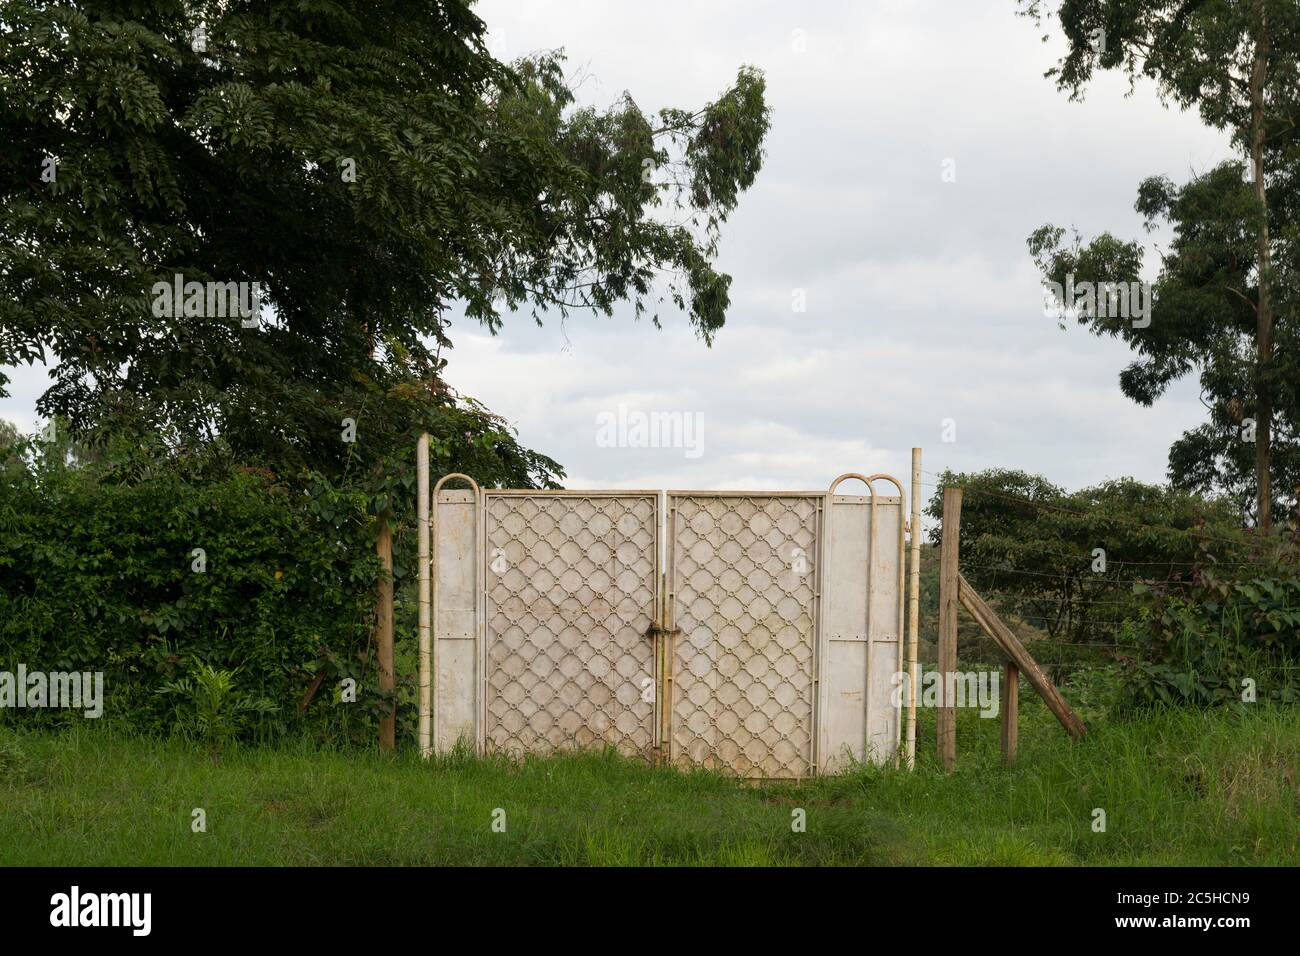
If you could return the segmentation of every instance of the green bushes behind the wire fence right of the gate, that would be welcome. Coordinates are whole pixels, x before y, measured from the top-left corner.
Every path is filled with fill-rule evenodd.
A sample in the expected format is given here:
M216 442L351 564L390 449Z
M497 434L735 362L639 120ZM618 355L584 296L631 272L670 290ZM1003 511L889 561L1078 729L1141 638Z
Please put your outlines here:
M1118 661L1126 708L1240 702L1245 678L1260 700L1296 700L1294 535L1245 532L1226 499L1131 479L1074 493L1004 470L945 472L942 483L963 489L962 574L1058 676ZM927 514L942 515L941 490ZM959 656L1000 657L987 650L968 639Z

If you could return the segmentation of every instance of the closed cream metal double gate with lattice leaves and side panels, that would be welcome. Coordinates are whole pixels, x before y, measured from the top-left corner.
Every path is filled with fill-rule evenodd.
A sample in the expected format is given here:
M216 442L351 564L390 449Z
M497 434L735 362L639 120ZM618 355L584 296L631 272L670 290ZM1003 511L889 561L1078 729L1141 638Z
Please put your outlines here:
M433 490L432 737L801 778L900 739L904 496ZM868 496L841 496L846 477ZM897 488L878 496L875 479Z

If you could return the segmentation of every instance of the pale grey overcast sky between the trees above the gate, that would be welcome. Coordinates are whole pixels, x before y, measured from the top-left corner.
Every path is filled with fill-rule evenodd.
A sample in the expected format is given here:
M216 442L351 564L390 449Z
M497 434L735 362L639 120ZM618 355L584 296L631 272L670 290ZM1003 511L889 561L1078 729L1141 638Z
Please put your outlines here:
M662 330L630 308L542 329L519 315L497 337L452 324L450 382L564 464L568 486L906 480L913 445L933 472L1160 481L1201 420L1195 381L1153 408L1121 394L1128 350L1044 316L1024 241L1048 221L1139 238L1139 181L1183 181L1228 156L1226 138L1117 75L1070 103L1043 77L1058 46L1010 0L488 0L478 14L499 56L564 47L586 104L627 90L647 112L694 108L741 64L767 75L767 160L724 228L732 306L712 349L671 310ZM12 375L0 416L26 429L44 372ZM620 406L686 412L701 433L610 447L601 416Z

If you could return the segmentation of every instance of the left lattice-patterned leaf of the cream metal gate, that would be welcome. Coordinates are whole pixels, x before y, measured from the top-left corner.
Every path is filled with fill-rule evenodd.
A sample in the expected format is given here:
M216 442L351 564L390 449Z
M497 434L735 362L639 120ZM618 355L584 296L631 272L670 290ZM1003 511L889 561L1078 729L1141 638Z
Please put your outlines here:
M490 750L654 747L656 499L488 496Z

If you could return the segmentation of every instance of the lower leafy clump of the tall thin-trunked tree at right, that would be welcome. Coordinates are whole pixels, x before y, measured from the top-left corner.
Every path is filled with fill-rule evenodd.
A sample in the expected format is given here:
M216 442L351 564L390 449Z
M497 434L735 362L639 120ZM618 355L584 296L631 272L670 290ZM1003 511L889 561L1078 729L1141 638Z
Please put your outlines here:
M1295 198L1284 189L1270 193L1274 225L1284 234L1287 207ZM1138 209L1148 228L1165 224L1173 239L1161 258L1152 286L1149 325L1100 307L1075 310L1075 319L1093 334L1118 337L1135 359L1119 375L1119 388L1149 406L1179 378L1199 372L1209 420L1186 432L1169 451L1169 476L1179 488L1227 494L1251 514L1256 496L1256 445L1243 440L1245 419L1256 419L1254 388L1265 384L1273 402L1271 468L1275 510L1295 502L1300 488L1300 326L1295 307L1300 286L1274 289L1277 323L1274 356L1256 367L1257 287L1252 222L1254 198L1240 163L1225 163L1182 187L1162 177L1141 183ZM1278 234L1275 232L1274 234ZM1030 237L1030 252L1045 281L1135 282L1143 246L1102 233L1091 242L1043 226ZM1278 256L1300 255L1300 245ZM1062 306L1067 303L1060 303ZM1262 376L1262 378L1261 378Z

